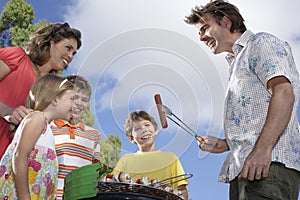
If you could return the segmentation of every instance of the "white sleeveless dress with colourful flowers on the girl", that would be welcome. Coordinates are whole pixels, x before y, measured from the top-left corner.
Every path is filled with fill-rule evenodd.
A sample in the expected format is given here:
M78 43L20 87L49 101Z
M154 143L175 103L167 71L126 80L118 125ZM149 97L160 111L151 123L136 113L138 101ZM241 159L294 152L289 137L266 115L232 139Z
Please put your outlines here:
M55 199L58 165L52 130L46 120L46 127L28 156L28 185L31 199ZM14 149L23 130L23 123L17 129L12 143L0 162L0 199L17 199L12 173Z

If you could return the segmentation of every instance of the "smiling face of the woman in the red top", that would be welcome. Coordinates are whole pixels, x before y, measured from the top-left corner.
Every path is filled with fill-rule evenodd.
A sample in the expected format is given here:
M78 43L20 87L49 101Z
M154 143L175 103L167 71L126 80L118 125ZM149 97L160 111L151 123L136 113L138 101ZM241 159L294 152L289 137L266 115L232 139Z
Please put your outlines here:
M65 38L50 46L50 59L48 63L52 69L62 71L72 62L77 51L77 41L75 38Z

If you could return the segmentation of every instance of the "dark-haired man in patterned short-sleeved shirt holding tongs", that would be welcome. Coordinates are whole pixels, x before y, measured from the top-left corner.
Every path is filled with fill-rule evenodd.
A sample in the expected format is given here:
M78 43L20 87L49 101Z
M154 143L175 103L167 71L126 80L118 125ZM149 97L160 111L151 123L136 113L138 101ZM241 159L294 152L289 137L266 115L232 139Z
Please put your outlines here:
M297 200L300 81L289 45L247 30L238 9L223 0L195 7L185 22L213 54L227 53L226 139L204 136L198 144L229 151L219 181L230 183L230 199Z

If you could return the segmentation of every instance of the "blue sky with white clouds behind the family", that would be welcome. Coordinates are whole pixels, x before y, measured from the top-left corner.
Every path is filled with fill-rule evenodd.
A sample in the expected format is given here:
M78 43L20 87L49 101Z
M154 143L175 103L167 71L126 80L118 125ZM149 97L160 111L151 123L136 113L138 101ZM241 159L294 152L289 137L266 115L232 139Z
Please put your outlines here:
M103 138L119 136L122 154L136 151L123 131L129 112L144 109L159 121L153 99L156 93L199 135L223 137L224 54L211 55L198 42L196 29L183 22L192 7L206 2L28 0L35 10L35 22L66 21L82 31L83 46L65 73L79 73L92 83L95 127ZM268 31L288 41L300 69L300 24L289 22L300 17L300 2L230 2L240 8L250 30ZM228 185L217 182L226 154L199 151L190 135L168 123L167 129L159 129L157 147L175 152L186 173L193 174L190 199L228 199Z

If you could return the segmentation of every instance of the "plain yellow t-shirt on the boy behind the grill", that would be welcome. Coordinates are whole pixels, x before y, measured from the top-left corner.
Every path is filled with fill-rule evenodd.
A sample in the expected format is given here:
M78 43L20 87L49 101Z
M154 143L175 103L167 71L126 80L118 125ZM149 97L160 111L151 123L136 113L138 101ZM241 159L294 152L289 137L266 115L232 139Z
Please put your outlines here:
M132 180L139 179L142 176L147 176L150 179L164 180L185 174L177 156L172 152L162 151L138 151L133 154L125 154L118 161L112 174L116 174L117 172L128 172ZM172 180L172 182L174 181ZM182 180L172 184L175 188L180 185L188 185L188 181Z

